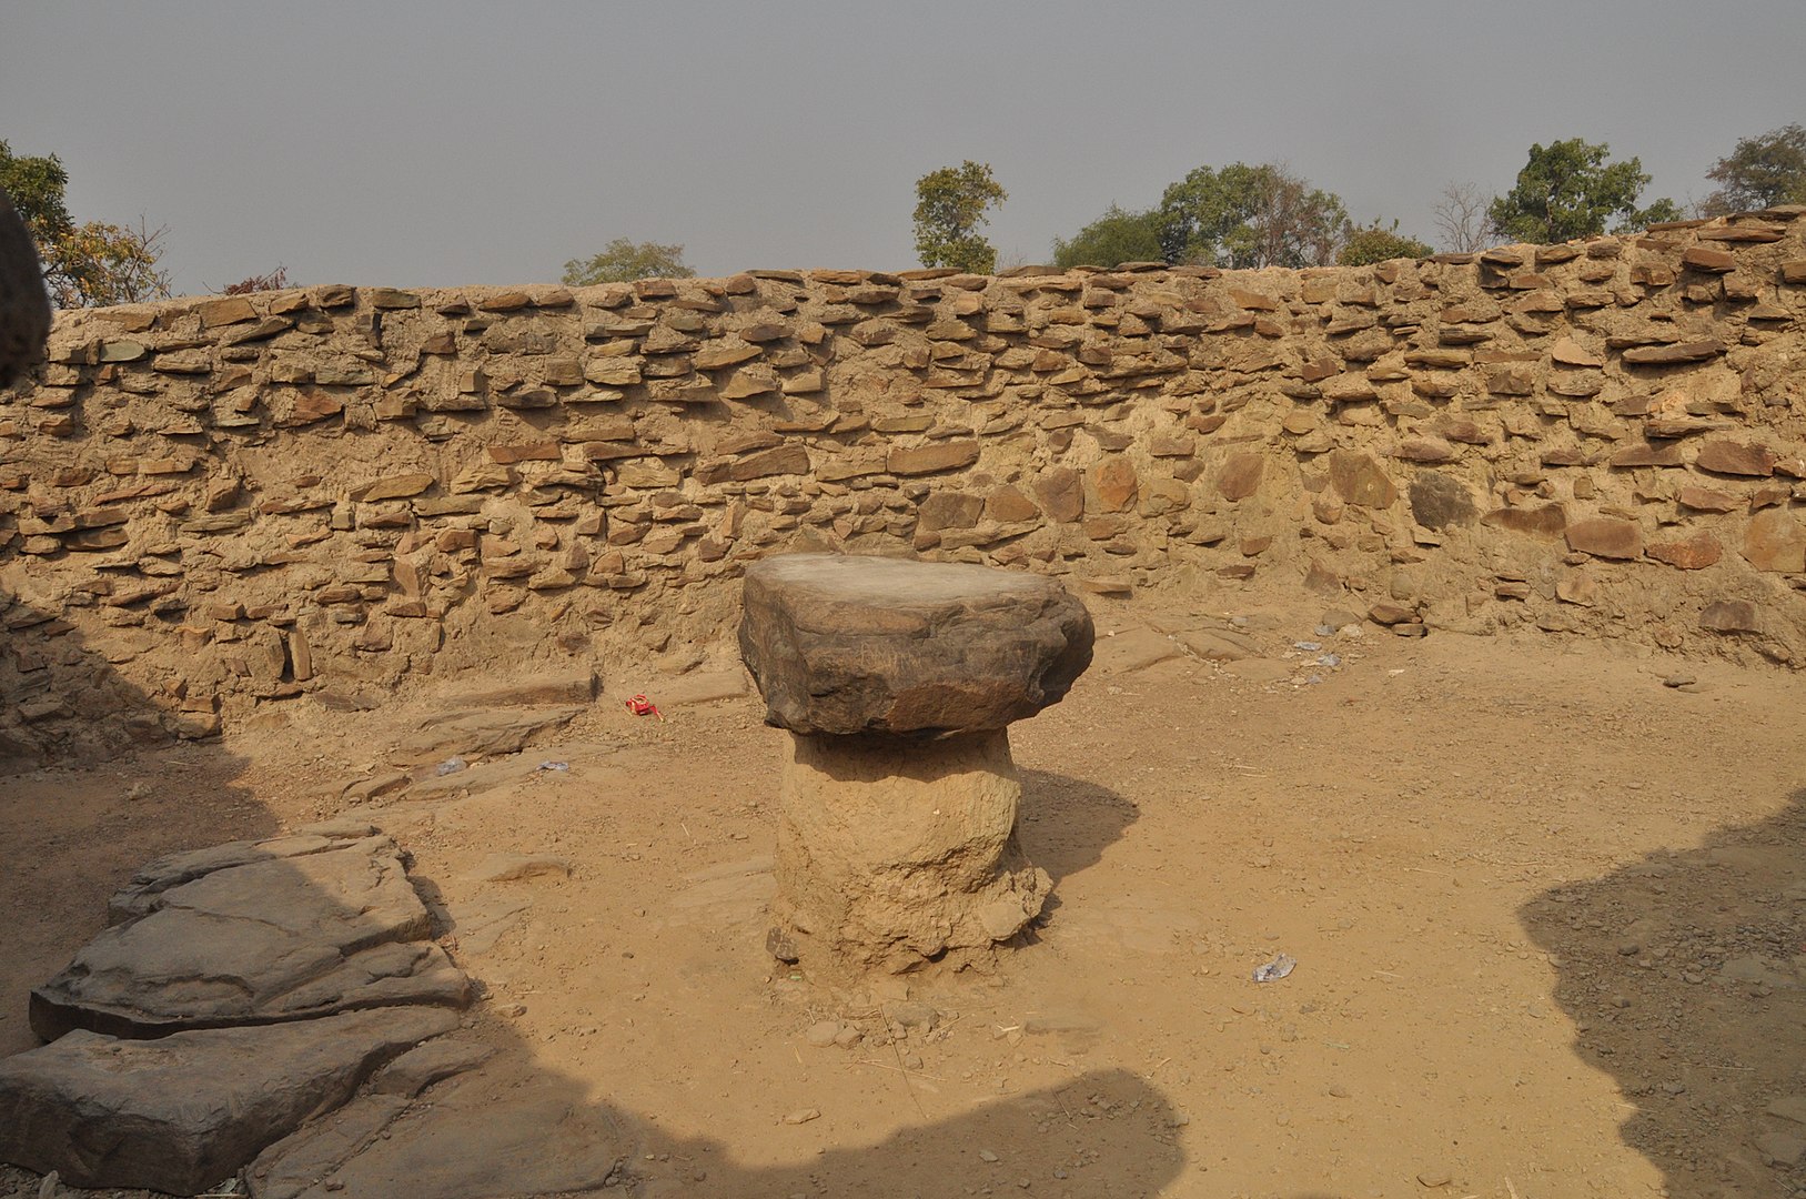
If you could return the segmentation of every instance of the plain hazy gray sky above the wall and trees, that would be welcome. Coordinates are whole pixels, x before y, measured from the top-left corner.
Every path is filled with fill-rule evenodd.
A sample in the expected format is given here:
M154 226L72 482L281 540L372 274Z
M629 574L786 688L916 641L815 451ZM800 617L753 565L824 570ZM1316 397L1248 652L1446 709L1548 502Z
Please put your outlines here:
M1645 202L1806 121L1802 0L249 4L0 0L0 139L177 291L916 265L916 179L990 163L1004 260L1201 164L1282 161L1436 240L1450 181L1606 141Z

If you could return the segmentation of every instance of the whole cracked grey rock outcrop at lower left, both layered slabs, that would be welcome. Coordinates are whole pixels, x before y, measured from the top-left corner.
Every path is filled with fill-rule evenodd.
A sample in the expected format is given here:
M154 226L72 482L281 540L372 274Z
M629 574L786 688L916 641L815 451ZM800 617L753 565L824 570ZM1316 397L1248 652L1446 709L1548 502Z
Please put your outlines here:
M108 916L31 993L51 1044L0 1062L0 1161L78 1186L200 1194L470 1002L405 854L358 822L159 858Z

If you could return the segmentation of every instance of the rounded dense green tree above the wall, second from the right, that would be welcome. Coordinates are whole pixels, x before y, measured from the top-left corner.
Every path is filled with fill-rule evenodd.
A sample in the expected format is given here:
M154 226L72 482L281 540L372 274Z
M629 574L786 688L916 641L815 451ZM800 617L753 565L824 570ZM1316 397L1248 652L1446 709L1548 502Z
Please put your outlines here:
M1513 242L1568 242L1598 237L1613 217L1613 231L1642 229L1658 220L1680 220L1674 200L1638 208L1649 186L1638 159L1609 163L1611 146L1578 137L1530 146L1530 161L1517 172L1517 186L1494 197L1486 209L1492 229Z

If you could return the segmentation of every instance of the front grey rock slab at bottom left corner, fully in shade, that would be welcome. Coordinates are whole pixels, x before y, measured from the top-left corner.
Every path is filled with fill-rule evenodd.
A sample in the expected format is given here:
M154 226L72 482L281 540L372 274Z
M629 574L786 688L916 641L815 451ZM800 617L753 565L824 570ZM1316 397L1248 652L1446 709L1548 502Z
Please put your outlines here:
M0 1062L0 1159L74 1186L193 1195L457 1024L442 1008L385 1008L154 1042L74 1031Z

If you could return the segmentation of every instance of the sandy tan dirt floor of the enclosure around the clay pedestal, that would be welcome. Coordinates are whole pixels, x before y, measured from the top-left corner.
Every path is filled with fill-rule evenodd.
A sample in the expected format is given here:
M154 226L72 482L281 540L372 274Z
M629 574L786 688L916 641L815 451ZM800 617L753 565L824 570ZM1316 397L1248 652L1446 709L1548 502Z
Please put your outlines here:
M1806 677L1326 636L1299 596L1094 610L1093 670L1011 730L1055 903L991 973L840 991L764 952L786 733L683 702L733 679L719 645L605 663L437 798L341 796L426 708L312 699L0 782L0 1053L141 861L358 814L442 903L493 1069L619 1136L609 1194L1806 1195ZM486 881L498 852L569 876Z

